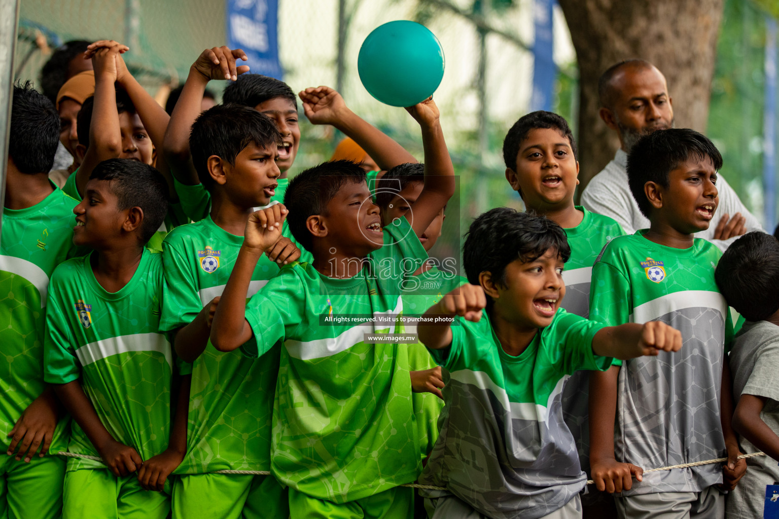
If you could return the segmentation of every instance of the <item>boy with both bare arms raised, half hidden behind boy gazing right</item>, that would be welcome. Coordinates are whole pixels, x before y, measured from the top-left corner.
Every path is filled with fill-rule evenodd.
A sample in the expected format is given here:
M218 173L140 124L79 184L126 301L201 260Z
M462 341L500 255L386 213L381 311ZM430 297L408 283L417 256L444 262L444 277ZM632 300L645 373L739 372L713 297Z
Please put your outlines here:
M278 146L277 165L281 176L273 202L284 200L284 191L291 169L298 155L300 127L298 126L298 99L287 83L259 74L247 74L249 66L239 65L246 56L241 49L213 47L203 51L189 68L182 95L171 115L165 132L164 153L175 178L176 190L189 218L199 221L209 212L210 193L203 188L189 153L189 128L200 113L203 94L210 80L231 81L224 89L223 103L236 103L254 108L270 117L282 135ZM351 110L333 89L320 86L300 93L303 108L312 124L333 124L344 134L358 141L384 169L414 157L397 142L366 123ZM259 209L259 208L258 208ZM289 234L285 234L289 237Z

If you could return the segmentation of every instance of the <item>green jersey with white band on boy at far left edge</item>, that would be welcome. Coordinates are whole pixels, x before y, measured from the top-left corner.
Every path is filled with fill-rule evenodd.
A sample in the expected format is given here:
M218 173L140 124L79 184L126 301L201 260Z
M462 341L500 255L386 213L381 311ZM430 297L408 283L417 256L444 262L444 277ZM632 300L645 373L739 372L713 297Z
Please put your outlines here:
M53 184L52 184L53 185ZM22 412L44 391L44 324L51 272L73 254L73 208L55 187L27 209L4 209L0 237L0 445ZM61 420L51 452L67 447Z

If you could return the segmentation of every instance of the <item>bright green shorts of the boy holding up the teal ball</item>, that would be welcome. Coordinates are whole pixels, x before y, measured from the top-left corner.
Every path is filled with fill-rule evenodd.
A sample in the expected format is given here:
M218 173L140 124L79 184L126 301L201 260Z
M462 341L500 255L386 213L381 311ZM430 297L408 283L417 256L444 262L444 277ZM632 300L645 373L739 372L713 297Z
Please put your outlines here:
M348 503L333 503L290 491L291 519L409 519L414 517L414 489L396 486Z

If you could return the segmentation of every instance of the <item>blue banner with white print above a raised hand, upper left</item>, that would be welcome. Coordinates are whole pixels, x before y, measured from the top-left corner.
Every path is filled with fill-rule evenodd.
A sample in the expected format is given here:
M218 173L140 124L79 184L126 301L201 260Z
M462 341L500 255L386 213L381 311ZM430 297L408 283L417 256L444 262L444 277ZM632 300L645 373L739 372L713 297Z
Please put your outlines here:
M254 74L282 79L279 62L278 0L227 0L227 47L240 48Z

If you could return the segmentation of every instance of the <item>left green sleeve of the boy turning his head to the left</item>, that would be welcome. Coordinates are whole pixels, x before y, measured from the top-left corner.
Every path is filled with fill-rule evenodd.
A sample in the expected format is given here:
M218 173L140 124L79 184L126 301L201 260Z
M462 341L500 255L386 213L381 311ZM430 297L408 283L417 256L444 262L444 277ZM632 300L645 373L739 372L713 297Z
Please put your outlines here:
M56 299L57 287L49 286L44 334L44 380L48 384L67 384L81 375L81 364L65 314ZM76 311L76 310L73 310Z

